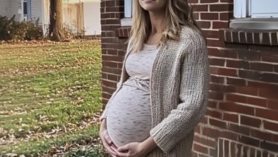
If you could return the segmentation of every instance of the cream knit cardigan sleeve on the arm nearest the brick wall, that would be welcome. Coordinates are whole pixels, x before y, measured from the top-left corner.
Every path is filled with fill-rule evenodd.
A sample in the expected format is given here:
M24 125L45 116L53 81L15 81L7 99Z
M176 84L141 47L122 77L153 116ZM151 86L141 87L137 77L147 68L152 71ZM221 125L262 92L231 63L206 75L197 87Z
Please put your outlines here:
M166 154L197 126L207 106L210 78L205 40L194 36L189 42L183 50L185 56L180 67L181 103L150 130L150 136Z

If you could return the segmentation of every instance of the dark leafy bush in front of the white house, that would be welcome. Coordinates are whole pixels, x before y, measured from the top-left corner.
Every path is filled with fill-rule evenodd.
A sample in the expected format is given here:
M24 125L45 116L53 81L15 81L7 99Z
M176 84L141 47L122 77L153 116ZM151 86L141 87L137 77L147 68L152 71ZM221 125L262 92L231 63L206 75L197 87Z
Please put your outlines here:
M32 40L43 38L43 30L31 21L16 21L15 16L8 19L0 15L0 40Z

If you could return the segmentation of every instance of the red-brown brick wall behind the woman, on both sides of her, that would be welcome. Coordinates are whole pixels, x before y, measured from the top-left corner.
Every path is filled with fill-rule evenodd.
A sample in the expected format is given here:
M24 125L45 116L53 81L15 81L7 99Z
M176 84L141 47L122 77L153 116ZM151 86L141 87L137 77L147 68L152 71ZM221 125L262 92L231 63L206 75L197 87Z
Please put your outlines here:
M193 156L278 156L277 31L227 29L232 0L190 3L207 36L211 73ZM122 17L123 1L101 1L103 106L120 79L129 30L120 27Z

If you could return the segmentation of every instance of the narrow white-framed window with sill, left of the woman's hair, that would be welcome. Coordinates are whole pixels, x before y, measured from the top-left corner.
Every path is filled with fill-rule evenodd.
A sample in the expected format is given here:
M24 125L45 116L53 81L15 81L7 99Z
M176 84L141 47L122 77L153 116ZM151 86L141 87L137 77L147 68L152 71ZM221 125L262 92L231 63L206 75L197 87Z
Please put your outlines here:
M125 0L125 17L120 19L121 26L131 26L131 19L133 14L133 0Z

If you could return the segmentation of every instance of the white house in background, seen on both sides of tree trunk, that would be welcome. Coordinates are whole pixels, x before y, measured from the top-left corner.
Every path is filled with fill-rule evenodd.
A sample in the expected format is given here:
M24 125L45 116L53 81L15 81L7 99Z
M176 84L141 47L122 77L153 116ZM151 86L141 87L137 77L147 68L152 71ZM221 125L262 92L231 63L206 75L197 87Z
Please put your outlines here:
M100 0L63 0L63 22L73 31L85 30L86 36L101 34ZM47 33L49 0L1 0L0 15L18 21L37 20Z

